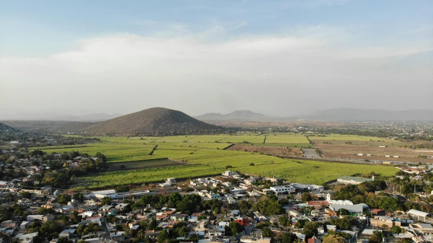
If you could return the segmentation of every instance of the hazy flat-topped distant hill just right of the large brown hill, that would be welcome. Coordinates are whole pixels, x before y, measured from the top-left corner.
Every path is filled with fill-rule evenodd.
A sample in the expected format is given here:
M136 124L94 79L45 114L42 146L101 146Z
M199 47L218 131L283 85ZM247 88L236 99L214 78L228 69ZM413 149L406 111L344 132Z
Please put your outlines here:
M249 110L234 111L229 114L222 115L220 113L206 113L195 117L199 120L242 120L242 121L260 121L267 120L271 117L261 113L255 113Z

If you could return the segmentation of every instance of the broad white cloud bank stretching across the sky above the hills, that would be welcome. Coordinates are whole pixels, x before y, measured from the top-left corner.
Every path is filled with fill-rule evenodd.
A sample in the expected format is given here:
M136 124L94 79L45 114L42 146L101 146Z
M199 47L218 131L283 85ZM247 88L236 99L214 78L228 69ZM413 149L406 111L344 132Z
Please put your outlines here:
M431 51L428 43L355 48L336 46L335 30L319 36L228 38L222 26L201 33L190 33L182 25L173 29L174 37L112 34L80 40L76 49L44 58L1 57L0 79L6 81L2 100L22 93L11 106L77 106L123 114L165 106L197 115L231 111L221 101L230 97L248 106L244 109L289 114L336 106L349 97L347 92L355 99L365 92L375 96L391 84L414 77L425 82L432 75L422 64L423 72L397 70L392 64ZM348 39L347 33L341 35ZM221 36L224 41L215 41ZM383 87L366 88L375 83ZM311 97L326 102L293 106Z

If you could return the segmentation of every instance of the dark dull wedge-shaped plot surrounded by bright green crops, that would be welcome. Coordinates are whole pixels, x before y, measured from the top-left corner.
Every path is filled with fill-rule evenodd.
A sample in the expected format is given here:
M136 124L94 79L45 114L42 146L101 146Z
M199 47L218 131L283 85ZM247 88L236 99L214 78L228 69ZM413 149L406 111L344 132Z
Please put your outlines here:
M166 166L185 165L186 163L173 161L169 159L148 160L126 163L113 163L110 164L110 171L126 171L135 169L148 169L148 168L161 168ZM121 167L125 166L125 167Z

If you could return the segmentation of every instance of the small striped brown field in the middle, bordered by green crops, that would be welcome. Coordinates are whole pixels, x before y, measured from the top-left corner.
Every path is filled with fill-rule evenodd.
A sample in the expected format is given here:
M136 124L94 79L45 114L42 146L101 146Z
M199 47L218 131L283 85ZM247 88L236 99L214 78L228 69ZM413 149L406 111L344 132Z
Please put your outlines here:
M228 148L227 150L302 157L301 149L288 148L288 147L267 147L267 146L237 144Z

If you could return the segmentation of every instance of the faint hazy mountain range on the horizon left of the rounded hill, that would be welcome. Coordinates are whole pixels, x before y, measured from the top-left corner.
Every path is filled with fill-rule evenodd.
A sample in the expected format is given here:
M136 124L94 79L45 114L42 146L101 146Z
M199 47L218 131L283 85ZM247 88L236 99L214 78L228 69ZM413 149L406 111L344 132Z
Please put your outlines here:
M121 116L121 114L88 114L88 115L66 115L56 113L0 113L2 120L44 120L44 121L105 121Z

